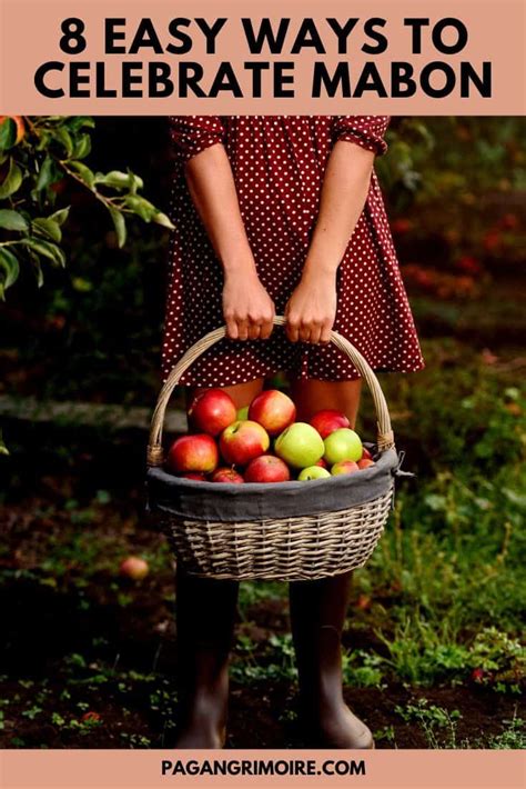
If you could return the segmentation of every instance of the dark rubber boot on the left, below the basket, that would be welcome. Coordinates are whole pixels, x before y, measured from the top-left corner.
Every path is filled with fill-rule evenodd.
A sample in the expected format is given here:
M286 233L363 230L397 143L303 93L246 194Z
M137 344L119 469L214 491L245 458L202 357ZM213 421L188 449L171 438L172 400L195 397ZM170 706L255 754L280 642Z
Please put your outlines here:
M223 748L239 583L176 575L175 748Z

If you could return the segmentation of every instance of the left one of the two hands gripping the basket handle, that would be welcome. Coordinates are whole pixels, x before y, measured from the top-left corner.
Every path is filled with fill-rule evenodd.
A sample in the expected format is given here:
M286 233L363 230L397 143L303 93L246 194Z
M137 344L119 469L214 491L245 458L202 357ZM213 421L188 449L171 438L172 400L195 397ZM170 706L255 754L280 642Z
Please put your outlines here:
M257 274L225 273L223 316L231 340L266 340L274 328L274 302Z

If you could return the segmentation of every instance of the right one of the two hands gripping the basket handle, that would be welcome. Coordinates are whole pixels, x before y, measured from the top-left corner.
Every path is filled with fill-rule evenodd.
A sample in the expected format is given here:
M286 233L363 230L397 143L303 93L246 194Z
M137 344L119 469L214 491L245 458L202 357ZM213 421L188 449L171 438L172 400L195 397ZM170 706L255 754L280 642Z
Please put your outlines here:
M306 273L285 308L286 336L292 342L326 344L336 318L336 271Z

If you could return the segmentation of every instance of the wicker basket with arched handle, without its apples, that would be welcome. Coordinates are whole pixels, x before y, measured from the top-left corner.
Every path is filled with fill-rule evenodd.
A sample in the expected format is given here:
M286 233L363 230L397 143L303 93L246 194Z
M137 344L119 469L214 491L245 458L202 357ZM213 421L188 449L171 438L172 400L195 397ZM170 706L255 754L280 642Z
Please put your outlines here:
M276 317L276 326L284 324ZM384 530L398 457L384 394L368 363L343 337L331 342L366 381L377 417L376 463L357 475L279 485L214 485L162 470L162 428L183 372L225 337L222 327L172 369L158 399L148 447L149 506L188 572L219 579L312 580L362 567Z

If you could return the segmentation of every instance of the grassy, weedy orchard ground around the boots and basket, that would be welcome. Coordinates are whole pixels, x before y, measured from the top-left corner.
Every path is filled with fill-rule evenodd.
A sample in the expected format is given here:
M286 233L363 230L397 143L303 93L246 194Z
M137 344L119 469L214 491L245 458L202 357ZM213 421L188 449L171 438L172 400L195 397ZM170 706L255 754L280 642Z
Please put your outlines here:
M474 357L447 339L425 351L426 371L383 378L418 479L399 486L380 548L355 572L345 696L378 747L519 747L517 357ZM134 431L13 427L1 508L0 745L168 746L174 566L144 517L144 442ZM129 555L148 560L143 581L119 575ZM286 585L243 583L229 745L301 746L295 682Z

